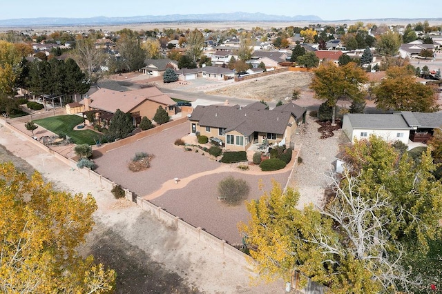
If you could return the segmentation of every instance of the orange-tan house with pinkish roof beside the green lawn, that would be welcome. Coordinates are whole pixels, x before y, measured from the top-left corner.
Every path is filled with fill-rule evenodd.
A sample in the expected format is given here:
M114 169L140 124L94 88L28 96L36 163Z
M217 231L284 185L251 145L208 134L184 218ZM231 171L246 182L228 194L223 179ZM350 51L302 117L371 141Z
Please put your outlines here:
M111 117L117 109L131 113L134 124L140 124L142 117L153 119L157 108L162 106L169 115L175 115L175 101L156 87L142 88L126 92L99 89L79 102L84 112L95 111L97 119Z

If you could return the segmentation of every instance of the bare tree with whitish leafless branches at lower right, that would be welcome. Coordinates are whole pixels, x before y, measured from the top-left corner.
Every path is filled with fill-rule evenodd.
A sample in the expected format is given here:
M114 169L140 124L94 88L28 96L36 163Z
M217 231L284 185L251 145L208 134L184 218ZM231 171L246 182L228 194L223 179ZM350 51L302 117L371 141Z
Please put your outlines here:
M322 215L333 219L341 241L332 240L320 230L306 241L317 244L323 253L351 256L363 262L371 279L378 281L385 290L398 286L407 290L409 286L421 284L420 277L412 277L412 271L401 266L405 251L386 229L391 222L389 216L379 213L391 205L388 197L382 196L385 188L378 189L375 199L367 199L358 192L359 184L357 177L345 171L343 180L334 178L335 198L325 208L319 208ZM332 262L339 264L340 259Z

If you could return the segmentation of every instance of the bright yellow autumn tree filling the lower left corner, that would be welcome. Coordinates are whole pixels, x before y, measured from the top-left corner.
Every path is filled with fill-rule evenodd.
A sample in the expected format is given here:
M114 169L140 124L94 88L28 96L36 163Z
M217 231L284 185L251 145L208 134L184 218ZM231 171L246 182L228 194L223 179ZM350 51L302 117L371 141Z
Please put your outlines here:
M93 227L91 195L70 195L0 164L0 292L109 293L115 271L82 258L77 246Z

